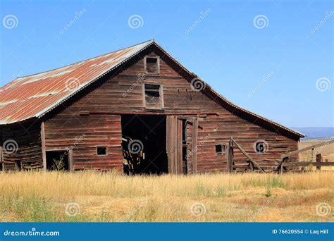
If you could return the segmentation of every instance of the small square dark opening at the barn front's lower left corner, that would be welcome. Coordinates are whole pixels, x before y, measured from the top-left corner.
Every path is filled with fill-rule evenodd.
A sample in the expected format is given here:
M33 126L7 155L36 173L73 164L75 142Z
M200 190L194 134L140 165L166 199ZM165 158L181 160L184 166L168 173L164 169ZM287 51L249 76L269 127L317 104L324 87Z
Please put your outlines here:
M68 170L68 152L67 151L48 151L47 170L48 171L66 171Z

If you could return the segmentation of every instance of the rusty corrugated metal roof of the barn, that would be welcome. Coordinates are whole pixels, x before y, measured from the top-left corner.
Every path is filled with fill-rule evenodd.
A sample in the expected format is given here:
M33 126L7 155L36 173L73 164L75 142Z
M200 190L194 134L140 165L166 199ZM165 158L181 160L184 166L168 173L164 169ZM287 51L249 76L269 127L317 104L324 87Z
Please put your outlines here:
M158 47L163 53L171 58L180 68L183 68L192 78L198 78L197 75L191 73L180 62L178 62L171 54L161 48L159 44L151 39L147 42L137 44L132 47L113 51L95 58L89 58L85 61L73 63L47 72L28 75L17 78L0 88L0 125L16 123L33 117L41 117L58 104L72 97L80 89L86 87L97 78L104 75L109 70L120 66L120 64L128 61L129 58L135 56L138 52L146 49L151 44ZM211 94L229 106L239 109L249 116L258 118L261 121L270 123L276 128L282 128L299 137L304 135L295 130L291 130L274 121L268 120L262 116L252 113L240 106L233 104L225 97L218 94L212 87L206 84Z

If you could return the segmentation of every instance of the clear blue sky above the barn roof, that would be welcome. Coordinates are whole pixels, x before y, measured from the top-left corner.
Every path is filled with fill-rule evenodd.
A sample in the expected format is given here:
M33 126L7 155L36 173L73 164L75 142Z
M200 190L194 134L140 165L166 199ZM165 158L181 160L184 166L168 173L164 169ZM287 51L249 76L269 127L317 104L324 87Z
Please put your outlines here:
M334 126L332 1L0 3L1 86L154 38L235 104L290 127Z

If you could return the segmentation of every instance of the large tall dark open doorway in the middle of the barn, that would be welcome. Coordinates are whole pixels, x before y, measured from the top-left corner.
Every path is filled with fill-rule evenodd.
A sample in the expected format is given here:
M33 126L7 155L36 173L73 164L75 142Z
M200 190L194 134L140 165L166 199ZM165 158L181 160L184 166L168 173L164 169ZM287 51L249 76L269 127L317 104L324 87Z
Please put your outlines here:
M124 173L168 173L166 116L122 115L121 119Z

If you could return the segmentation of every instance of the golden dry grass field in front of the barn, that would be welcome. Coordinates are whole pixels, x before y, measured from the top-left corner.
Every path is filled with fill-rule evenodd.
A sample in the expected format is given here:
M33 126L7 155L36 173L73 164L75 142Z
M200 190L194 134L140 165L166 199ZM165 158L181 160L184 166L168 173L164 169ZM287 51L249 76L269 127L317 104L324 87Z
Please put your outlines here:
M0 173L0 183L0 221L334 221L334 172L25 172ZM66 215L70 202L80 205L80 214ZM330 205L332 213L318 216L320 203ZM204 207L205 213L194 216L193 205L194 214L204 213Z

